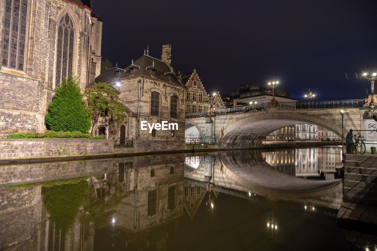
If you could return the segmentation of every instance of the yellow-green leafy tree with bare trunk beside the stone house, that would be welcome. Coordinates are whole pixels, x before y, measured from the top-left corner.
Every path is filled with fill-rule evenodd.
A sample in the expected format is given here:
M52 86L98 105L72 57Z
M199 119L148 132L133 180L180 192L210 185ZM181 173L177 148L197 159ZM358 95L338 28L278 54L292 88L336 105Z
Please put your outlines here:
M121 98L115 90L106 83L95 83L94 89L84 92L86 112L92 117L93 129L98 127L101 116L107 111L110 116L115 116L117 122L123 124L126 118L126 109L120 103Z

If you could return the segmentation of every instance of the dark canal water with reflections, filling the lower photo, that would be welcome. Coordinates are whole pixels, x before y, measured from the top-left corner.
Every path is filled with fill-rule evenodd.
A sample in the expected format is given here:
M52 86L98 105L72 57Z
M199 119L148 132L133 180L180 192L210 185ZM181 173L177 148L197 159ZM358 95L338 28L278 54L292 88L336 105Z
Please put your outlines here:
M0 166L0 250L375 250L341 147Z

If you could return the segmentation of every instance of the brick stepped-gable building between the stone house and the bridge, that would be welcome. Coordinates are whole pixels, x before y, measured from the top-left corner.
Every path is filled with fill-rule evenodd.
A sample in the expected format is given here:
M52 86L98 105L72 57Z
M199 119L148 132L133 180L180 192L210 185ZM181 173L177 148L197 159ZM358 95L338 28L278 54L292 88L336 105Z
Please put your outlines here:
M190 73L189 75L182 77L181 79L187 88L185 100L186 113L208 111L211 105L211 101L208 97L207 92L204 89L204 86L198 76L198 73L196 73L196 70L194 70L193 73ZM212 93L210 93L210 95L212 95ZM214 104L215 109L225 108L224 104L222 103L222 99L219 92L216 93Z

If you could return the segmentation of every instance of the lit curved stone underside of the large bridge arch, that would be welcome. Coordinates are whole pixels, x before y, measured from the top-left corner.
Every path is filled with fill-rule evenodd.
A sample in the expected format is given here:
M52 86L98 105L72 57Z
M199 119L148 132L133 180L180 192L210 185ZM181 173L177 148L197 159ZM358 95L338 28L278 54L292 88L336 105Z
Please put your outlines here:
M268 112L247 113L244 118L224 127L220 134L219 147L260 147L262 141L271 132L282 127L303 123L316 124L342 136L341 124L334 123L333 119L301 111L301 113L293 113L290 110L270 109ZM339 111L334 110L333 112L335 113L332 116L336 116L339 121Z

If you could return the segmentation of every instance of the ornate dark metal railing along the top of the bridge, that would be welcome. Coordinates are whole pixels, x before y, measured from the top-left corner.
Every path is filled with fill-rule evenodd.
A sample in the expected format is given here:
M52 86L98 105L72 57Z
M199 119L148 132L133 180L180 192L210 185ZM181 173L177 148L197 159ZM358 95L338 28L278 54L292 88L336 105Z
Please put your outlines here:
M365 104L364 99L346 99L346 100L328 100L328 101L313 101L313 102L286 102L279 103L280 109L311 109L319 108L347 108L347 107L362 107ZM258 104L252 106L237 106L224 109L215 110L216 115L225 115L231 113L256 112L267 110L268 104ZM186 118L205 117L208 112L191 112L186 113Z

